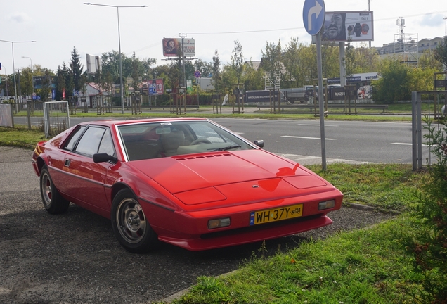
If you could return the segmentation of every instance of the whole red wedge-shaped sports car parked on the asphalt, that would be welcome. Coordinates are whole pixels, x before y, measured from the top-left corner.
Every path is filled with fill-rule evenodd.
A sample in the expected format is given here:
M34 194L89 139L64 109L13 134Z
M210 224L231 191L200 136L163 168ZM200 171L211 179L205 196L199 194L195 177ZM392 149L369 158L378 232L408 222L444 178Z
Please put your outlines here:
M70 202L110 218L128 251L192 251L332 223L343 194L292 160L202 118L84 122L37 144L48 213Z

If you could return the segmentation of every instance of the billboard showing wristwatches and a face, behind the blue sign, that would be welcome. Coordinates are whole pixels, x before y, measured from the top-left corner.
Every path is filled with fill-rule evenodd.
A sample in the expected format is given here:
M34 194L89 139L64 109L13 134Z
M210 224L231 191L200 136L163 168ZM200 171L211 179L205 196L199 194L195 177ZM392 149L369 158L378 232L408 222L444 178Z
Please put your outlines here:
M372 11L326 12L321 39L333 42L374 40Z

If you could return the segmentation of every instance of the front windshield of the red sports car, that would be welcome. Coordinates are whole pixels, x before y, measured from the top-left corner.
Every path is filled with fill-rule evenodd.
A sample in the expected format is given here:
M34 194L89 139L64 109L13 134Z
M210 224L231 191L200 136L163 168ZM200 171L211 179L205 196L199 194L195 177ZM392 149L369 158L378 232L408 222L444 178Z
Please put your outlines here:
M135 123L119 126L118 131L128 160L253 148L206 120Z

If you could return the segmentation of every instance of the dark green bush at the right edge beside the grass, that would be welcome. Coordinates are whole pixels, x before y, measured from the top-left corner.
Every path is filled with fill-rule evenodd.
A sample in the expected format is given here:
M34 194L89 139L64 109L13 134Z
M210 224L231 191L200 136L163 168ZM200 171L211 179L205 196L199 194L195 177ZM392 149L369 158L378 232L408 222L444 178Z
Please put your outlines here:
M447 303L447 127L426 120L426 143L434 155L428 165L429 175L423 184L413 213L420 224L417 234L407 236L406 248L414 256L415 270L424 280L427 303Z

